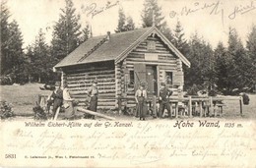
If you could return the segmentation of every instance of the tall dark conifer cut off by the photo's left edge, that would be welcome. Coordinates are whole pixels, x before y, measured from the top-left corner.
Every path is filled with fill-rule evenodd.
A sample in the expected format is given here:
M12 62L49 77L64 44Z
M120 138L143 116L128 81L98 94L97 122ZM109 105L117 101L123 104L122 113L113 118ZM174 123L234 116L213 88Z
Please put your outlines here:
M24 83L23 35L18 23L9 22L6 1L1 1L1 75L8 75L14 83Z

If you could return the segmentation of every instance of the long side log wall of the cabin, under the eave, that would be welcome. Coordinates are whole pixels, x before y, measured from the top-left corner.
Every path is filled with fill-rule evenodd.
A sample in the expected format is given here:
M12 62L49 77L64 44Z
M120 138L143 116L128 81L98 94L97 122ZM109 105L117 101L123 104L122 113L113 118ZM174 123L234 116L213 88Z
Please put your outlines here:
M98 87L97 108L113 109L116 104L116 84L120 84L120 81L115 81L115 76L119 75L115 72L113 62L107 62L105 64L98 63L66 68L63 70L62 79L68 84L71 96L79 100L81 106L85 105L89 99L86 90L96 80Z

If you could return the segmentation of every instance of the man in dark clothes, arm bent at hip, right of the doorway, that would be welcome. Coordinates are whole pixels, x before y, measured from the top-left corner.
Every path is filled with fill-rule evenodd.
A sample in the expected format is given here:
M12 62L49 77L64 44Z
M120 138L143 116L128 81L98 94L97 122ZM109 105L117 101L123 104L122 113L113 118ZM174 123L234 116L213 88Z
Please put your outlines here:
M171 118L170 113L170 104L169 104L169 96L172 94L164 83L160 84L160 118L162 117L163 111L166 108L168 111L168 116Z

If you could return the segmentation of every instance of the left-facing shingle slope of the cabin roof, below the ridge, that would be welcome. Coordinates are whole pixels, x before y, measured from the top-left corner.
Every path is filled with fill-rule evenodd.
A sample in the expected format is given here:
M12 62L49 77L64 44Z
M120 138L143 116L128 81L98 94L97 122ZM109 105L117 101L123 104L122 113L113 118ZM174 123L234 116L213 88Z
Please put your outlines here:
M106 35L96 36L88 39L77 47L73 52L61 60L55 68L69 65L93 63L99 61L115 60L125 49L132 45L138 38L150 28L140 28L131 31L110 34L109 41L103 42ZM94 49L102 41L96 50L93 50L87 57L85 55ZM81 59L85 57L84 59Z

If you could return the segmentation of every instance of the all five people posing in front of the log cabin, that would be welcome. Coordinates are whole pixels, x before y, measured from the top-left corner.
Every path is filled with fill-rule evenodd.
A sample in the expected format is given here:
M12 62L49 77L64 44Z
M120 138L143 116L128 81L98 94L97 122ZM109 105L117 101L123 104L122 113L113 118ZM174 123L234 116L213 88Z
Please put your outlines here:
M75 117L75 110L74 110L74 99L70 96L69 89L67 84L63 84L61 87L60 82L56 82L55 89L52 91L51 95L48 98L47 108L49 110L50 106L53 105L52 113L53 118L57 113L57 110L60 107L65 108L65 118L72 119ZM146 84L141 83L137 91L135 92L135 100L137 102L137 111L136 117L140 118L140 120L145 120L147 112L148 112L148 105L147 105L147 90ZM86 94L90 97L89 100L89 107L88 109L91 111L96 112L97 107L97 96L98 96L98 89L96 81L93 81L92 86L90 89L85 91ZM159 113L154 114L154 117L163 118L164 110L166 109L168 112L168 116L171 117L170 114L170 104L169 104L169 96L172 94L172 91L169 90L164 83L160 85L160 96L159 96ZM95 119L95 116L85 114L85 118L92 118Z

